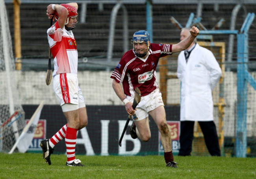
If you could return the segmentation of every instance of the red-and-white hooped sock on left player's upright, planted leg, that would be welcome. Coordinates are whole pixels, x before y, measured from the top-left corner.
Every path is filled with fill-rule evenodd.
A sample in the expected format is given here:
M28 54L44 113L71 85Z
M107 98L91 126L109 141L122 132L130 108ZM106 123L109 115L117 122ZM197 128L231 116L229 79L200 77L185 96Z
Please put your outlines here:
M72 163L76 159L76 132L77 129L67 127L65 137L67 148L67 163Z

